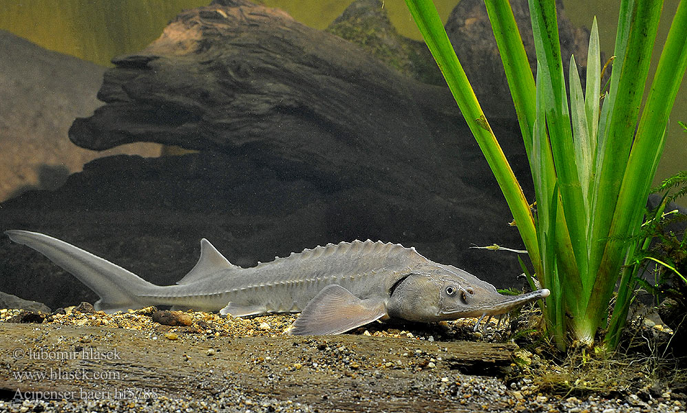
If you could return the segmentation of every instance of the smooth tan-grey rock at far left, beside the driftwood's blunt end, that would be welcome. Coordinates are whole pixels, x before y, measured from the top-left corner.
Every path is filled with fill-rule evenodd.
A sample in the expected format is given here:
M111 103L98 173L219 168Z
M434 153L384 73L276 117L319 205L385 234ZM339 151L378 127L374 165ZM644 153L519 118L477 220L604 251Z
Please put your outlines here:
M136 143L97 153L76 148L67 130L76 116L103 103L96 92L105 67L45 50L0 30L0 200L32 188L56 189L70 172L114 153L157 156L159 145Z

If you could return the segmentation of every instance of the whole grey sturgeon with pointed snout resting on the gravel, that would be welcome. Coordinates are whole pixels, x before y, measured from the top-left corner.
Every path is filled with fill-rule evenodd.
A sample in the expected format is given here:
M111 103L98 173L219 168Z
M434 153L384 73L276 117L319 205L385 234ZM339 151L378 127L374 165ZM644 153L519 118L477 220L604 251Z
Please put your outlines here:
M517 296L400 244L341 242L276 257L252 268L231 264L206 239L200 260L173 286L157 286L101 257L49 235L5 232L39 251L101 298L104 311L168 305L242 317L301 313L293 335L334 335L378 319L440 321L503 315L549 290Z

